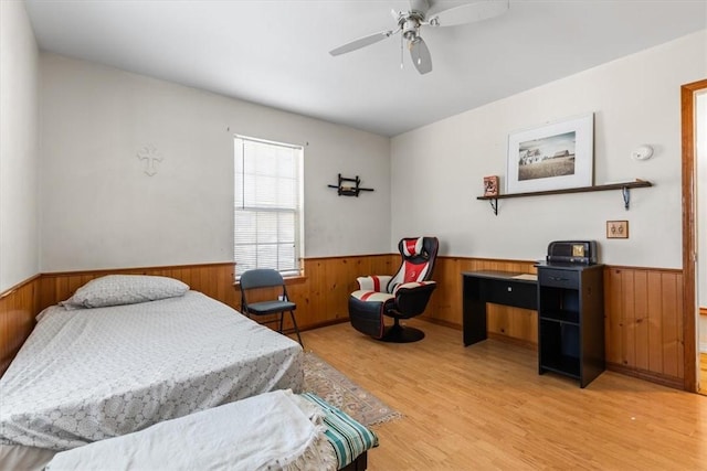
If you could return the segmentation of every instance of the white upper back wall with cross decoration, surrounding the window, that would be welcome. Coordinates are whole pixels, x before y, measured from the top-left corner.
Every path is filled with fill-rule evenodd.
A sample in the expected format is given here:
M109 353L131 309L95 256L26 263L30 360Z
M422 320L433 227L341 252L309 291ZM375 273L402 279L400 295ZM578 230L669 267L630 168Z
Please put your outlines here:
M388 251L388 138L59 55L41 74L42 271L232 260L234 133L305 146L307 257Z

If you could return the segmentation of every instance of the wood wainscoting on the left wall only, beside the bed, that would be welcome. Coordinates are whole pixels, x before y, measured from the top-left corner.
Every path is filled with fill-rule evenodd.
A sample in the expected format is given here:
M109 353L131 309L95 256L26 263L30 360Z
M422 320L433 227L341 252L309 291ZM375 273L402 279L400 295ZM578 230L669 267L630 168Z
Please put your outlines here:
M34 328L39 276L0 295L0 376Z

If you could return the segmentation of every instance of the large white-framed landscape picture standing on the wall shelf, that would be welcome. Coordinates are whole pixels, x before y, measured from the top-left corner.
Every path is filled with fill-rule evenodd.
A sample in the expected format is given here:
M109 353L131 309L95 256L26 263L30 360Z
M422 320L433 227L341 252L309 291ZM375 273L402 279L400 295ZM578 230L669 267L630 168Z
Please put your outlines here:
M593 113L508 136L507 193L591 186L593 180Z

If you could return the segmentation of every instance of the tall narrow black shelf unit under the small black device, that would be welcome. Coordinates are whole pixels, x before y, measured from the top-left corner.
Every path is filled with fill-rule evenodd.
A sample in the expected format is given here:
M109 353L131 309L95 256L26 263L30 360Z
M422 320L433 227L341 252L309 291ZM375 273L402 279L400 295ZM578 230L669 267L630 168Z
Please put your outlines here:
M538 265L538 373L585 387L604 368L603 265Z

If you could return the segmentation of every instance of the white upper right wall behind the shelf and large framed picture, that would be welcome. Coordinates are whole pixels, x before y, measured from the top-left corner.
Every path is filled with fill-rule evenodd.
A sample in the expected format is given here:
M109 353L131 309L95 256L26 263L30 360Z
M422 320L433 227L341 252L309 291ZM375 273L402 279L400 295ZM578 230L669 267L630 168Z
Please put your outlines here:
M394 137L391 245L409 234L440 237L444 255L542 259L558 239L595 239L612 265L682 267L680 95L707 76L701 31ZM505 185L508 133L594 113L594 182L640 178L651 189L477 201L484 175ZM655 148L637 162L639 144ZM605 238L627 220L629 239Z

